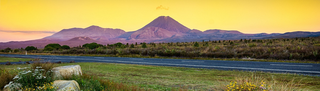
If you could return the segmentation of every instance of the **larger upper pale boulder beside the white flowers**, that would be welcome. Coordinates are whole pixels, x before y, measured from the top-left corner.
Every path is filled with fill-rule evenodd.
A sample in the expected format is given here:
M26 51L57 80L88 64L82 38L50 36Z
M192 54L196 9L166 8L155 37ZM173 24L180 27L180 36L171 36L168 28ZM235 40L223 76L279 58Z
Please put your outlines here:
M62 78L62 76L70 76L72 74L82 75L80 65L68 65L52 68L54 71L55 77L57 79Z

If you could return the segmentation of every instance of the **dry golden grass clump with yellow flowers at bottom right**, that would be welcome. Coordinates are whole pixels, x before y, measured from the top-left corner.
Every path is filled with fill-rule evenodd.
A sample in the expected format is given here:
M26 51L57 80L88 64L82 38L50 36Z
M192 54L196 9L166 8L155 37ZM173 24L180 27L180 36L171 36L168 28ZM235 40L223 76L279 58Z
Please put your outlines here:
M276 79L271 76L263 78L262 76L235 76L234 81L220 81L214 90L219 91L308 91L308 88L302 89L307 83L295 81L293 79Z

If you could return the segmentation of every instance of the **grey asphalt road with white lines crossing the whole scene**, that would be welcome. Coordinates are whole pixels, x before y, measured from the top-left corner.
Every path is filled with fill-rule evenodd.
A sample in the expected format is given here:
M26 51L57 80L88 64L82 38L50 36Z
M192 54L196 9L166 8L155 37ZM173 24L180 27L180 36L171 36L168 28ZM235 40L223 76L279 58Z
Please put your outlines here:
M174 66L188 68L204 68L218 70L262 71L281 73L301 73L320 75L320 64L311 63L282 63L282 62L253 62L253 61L223 61L223 60L191 60L191 59L159 59L159 58L132 58L132 57L87 57L87 56L50 56L50 55L13 55L0 54L6 57L40 58L50 62L99 62L143 64L156 66ZM5 64L6 62L0 63ZM22 64L25 62L11 62Z

